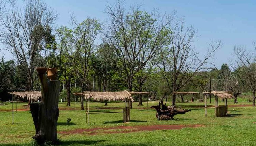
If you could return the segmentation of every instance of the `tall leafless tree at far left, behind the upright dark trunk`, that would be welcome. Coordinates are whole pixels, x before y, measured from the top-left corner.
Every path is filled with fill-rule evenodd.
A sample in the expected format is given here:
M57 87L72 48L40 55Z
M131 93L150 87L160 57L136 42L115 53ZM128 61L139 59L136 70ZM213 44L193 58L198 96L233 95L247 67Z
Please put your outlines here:
M34 70L39 66L44 31L55 22L58 14L42 0L26 0L21 10L16 1L10 7L1 17L5 27L4 49L13 54L15 61L22 66L30 91L33 91Z

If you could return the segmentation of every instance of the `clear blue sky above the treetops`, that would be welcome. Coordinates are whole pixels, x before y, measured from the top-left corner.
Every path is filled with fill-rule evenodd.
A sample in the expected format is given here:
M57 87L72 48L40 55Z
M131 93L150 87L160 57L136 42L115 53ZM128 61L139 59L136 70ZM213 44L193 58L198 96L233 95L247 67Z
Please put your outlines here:
M45 0L45 2L59 13L56 26L69 25L69 12L74 13L78 21L86 17L99 18L104 21L103 13L107 3L115 0ZM176 16L185 17L186 25L193 25L197 29L197 41L194 43L196 51L203 56L207 51L207 43L222 40L224 45L215 53L212 61L219 68L233 58L234 45L252 47L256 41L256 1L241 0L127 0L127 6L141 3L142 10L150 11L159 8L163 13L176 10ZM6 53L6 60L11 59Z

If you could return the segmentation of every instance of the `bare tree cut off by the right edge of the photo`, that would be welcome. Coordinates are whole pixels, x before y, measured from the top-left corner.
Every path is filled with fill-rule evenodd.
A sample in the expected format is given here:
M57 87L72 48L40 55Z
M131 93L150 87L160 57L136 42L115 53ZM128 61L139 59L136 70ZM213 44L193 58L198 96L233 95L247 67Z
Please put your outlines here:
M236 60L231 64L242 84L250 87L253 92L253 106L255 106L256 92L256 42L253 42L253 50L246 50L243 46L235 46Z

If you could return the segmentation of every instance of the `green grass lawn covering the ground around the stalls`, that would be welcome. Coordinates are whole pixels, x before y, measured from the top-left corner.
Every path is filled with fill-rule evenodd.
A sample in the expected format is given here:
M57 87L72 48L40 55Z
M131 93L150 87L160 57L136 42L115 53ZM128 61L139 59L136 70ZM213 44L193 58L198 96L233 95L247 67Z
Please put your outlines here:
M228 105L233 105L233 100ZM240 99L239 104L247 105L251 102ZM166 145L256 145L256 108L246 107L229 107L229 116L214 117L214 109L208 109L208 117L204 116L203 102L177 103L178 107L191 109L191 112L174 116L171 121L158 121L155 117L156 111L147 110L147 102L143 107L137 106L137 102L133 103L131 110L131 122L122 123L122 113L108 114L92 114L90 115L90 125L86 124L85 111L79 110L80 103L71 103L67 107L65 103L59 103L60 110L58 120L58 131L69 131L75 129L89 129L96 127L117 127L117 126L138 126L138 125L190 125L202 124L203 127L183 128L180 130L156 130L156 131L140 131L132 133L114 133L96 135L81 134L58 134L60 145L79 146L79 145L106 145L106 146L166 146ZM158 102L149 102L149 106L156 105ZM169 105L168 102L167 105ZM220 105L224 105L219 101ZM15 105L15 104L14 104ZM18 103L17 108L22 109L26 103ZM108 107L124 107L124 103L111 102ZM213 99L212 104L214 105ZM201 106L201 107L200 107ZM16 109L16 105L14 106ZM98 103L98 111L121 111L121 109L100 109L104 103ZM67 110L70 108L70 110ZM90 108L96 108L96 103L90 103ZM5 110L5 111L4 111ZM7 111L6 111L7 110ZM0 106L0 146L5 145L33 145L32 136L35 134L35 128L30 111L14 112L14 124L12 124L12 104ZM90 110L91 112L96 111ZM71 118L71 122L67 124L67 118Z

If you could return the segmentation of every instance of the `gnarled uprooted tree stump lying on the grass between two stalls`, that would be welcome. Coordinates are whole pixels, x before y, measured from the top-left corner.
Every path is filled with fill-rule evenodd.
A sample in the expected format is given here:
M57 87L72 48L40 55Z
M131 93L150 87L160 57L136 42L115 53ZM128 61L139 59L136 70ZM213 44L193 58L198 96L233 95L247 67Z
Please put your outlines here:
M162 105L162 108L161 108ZM185 114L186 112L189 112L191 110L178 110L171 106L166 106L166 104L163 104L163 101L159 102L159 105L157 106L151 106L150 108L156 109L156 118L158 120L172 120L173 117L177 114Z

